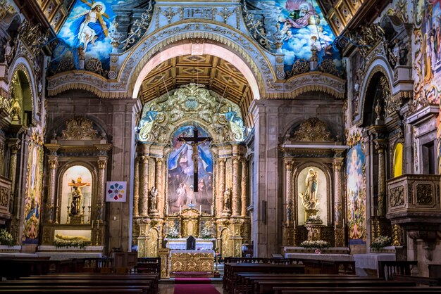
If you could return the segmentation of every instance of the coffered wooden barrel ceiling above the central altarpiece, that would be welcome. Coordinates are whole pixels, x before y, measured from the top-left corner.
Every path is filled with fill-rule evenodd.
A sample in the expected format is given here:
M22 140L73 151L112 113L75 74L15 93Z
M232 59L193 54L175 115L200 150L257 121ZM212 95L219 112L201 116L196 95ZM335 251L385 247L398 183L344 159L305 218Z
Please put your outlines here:
M253 124L251 115L247 115L253 101L247 79L234 65L216 56L186 55L164 61L142 82L142 101L146 103L190 83L204 84L207 89L237 103L247 125Z

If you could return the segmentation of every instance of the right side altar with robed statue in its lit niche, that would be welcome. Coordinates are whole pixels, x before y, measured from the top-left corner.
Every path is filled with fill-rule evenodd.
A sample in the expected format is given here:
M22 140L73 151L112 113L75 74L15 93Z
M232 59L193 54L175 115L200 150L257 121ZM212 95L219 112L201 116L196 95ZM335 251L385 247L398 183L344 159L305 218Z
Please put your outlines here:
M283 162L283 246L324 240L343 247L343 154L325 122L316 117L294 125L280 146Z

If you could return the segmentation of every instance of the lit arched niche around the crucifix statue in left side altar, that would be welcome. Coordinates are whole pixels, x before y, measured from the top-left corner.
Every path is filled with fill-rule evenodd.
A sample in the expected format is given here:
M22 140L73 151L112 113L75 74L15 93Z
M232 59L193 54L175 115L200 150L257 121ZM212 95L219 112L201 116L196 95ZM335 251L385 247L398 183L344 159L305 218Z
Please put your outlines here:
M83 223L87 224L92 219L92 205L94 203L97 191L97 175L93 167L87 162L76 161L69 162L61 168L58 174L58 223L70 223L70 205L72 204L73 182L81 181L85 186L80 187L82 200L80 207L84 209ZM88 183L88 184L86 184ZM90 209L89 209L90 207Z

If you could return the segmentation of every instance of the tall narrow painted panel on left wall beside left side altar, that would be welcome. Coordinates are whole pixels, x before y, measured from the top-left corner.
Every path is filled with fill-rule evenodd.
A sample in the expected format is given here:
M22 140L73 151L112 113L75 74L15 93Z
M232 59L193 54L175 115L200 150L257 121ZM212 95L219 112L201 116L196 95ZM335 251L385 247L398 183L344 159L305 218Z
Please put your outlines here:
M37 244L43 188L43 141L37 132L32 134L27 154L25 220L22 241Z

